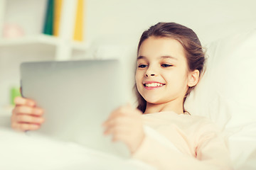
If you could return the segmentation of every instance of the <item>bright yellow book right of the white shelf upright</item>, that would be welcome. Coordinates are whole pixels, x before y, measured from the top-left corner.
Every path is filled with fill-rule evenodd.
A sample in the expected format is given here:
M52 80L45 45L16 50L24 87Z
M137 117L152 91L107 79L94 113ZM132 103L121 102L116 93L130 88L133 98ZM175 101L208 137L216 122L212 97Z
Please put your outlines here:
M78 0L78 6L75 16L75 30L74 40L82 41L82 28L83 28L83 0Z

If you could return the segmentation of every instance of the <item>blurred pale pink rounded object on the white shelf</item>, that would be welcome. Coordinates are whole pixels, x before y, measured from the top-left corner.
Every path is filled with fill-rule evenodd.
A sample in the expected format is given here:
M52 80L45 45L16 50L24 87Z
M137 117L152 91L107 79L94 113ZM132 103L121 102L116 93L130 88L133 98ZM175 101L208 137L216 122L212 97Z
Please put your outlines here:
M18 38L24 35L21 26L16 24L6 24L4 25L3 36L4 38Z

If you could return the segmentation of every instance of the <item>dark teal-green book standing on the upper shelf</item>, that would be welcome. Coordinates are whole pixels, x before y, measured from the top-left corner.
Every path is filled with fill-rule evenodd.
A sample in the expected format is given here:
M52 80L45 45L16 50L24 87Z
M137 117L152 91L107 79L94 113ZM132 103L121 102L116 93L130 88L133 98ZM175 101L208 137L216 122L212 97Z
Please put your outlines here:
M43 33L53 35L53 15L54 0L48 0L46 7L46 17L43 26Z

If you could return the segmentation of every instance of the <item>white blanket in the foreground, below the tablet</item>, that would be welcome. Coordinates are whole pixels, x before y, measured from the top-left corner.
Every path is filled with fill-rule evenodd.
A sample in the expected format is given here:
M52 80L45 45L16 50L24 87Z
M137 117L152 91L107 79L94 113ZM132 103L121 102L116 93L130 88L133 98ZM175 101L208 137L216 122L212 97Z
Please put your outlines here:
M8 124L6 118L0 116L0 169L154 169L136 159L122 159L75 143L16 132L3 127Z

